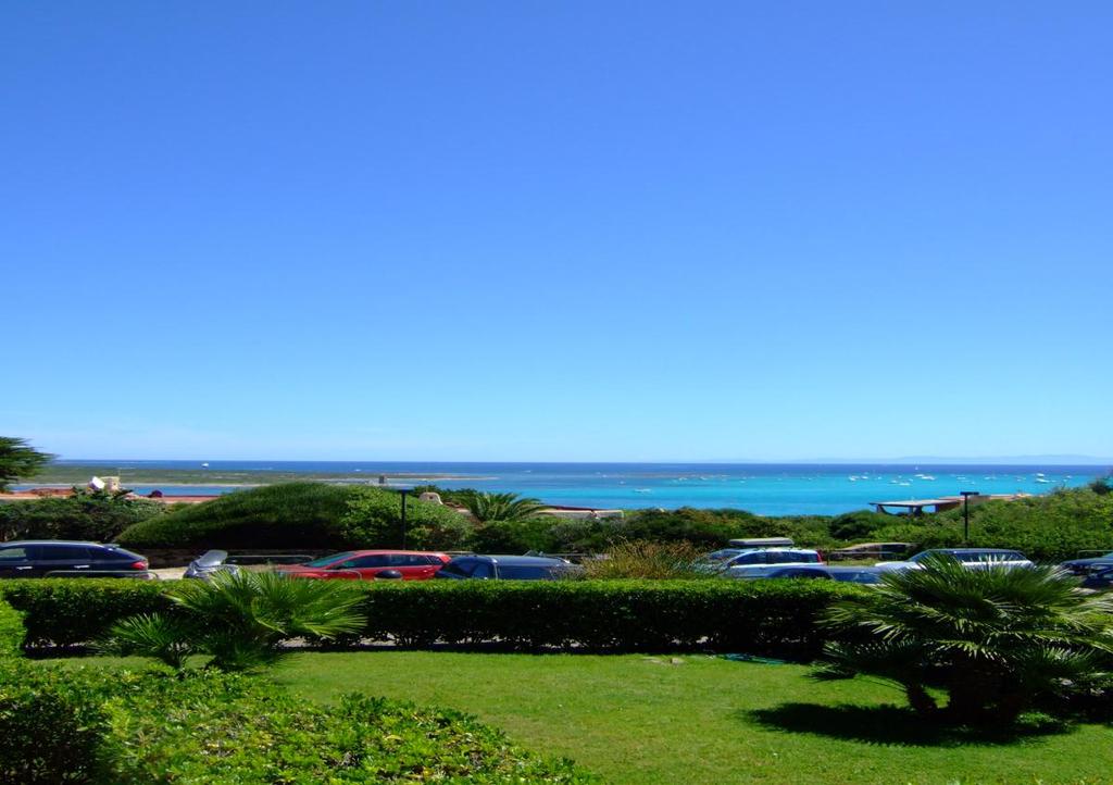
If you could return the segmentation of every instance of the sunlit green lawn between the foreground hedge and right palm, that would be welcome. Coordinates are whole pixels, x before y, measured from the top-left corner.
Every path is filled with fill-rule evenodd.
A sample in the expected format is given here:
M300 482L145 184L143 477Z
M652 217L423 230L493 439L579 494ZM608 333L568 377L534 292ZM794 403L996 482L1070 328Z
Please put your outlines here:
M460 708L612 783L1109 783L1113 729L1021 739L940 735L899 695L807 668L642 656L306 654L277 678Z

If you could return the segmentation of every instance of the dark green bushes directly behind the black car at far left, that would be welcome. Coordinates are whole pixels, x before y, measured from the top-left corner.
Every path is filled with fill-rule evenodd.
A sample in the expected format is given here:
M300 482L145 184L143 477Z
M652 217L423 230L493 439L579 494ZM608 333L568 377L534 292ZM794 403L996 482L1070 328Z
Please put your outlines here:
M166 513L166 504L119 493L77 490L71 497L0 504L0 539L111 542L128 527Z

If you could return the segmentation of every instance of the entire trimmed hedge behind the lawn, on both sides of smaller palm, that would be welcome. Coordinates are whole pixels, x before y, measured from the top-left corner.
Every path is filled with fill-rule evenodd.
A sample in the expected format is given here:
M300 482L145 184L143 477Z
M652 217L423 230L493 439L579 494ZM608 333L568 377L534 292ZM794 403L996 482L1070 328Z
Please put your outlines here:
M359 585L361 636L406 646L495 642L519 649L742 651L792 659L818 654L819 615L864 591L828 581L427 581ZM165 610L173 583L49 579L0 592L26 614L27 645L72 645L112 622Z

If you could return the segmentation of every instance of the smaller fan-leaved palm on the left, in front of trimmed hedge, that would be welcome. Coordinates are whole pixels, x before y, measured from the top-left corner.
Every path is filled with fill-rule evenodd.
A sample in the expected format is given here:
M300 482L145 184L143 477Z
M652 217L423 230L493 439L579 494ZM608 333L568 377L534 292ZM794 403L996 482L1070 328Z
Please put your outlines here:
M101 649L152 657L181 669L190 655L209 667L252 670L290 650L290 638L329 640L363 629L362 597L345 583L298 580L276 572L219 572L210 581L183 581L171 593L174 611L122 619Z

